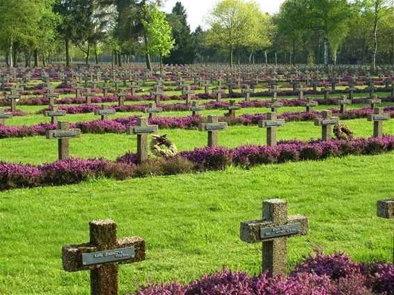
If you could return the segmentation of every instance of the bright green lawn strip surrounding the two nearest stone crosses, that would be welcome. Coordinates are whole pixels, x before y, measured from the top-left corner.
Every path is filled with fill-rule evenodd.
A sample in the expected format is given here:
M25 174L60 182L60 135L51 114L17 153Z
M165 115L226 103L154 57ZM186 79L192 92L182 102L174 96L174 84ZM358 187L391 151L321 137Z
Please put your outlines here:
M310 218L288 242L289 267L314 246L354 260L391 262L392 221L376 202L392 197L394 153L0 193L0 293L88 294L88 271L66 273L61 246L88 241L88 221L111 218L118 237L137 235L147 260L120 266L120 291L136 281L193 280L206 272L260 272L261 244L239 240L239 223L261 218L262 200L283 198Z

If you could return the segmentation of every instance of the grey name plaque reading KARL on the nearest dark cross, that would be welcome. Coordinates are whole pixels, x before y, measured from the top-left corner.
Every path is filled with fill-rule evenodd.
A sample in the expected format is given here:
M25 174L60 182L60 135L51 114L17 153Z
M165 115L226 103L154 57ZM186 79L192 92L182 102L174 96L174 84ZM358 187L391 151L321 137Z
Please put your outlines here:
M100 252L82 254L82 264L92 265L105 262L116 262L120 260L128 260L135 257L134 247L121 248L113 250L105 250Z

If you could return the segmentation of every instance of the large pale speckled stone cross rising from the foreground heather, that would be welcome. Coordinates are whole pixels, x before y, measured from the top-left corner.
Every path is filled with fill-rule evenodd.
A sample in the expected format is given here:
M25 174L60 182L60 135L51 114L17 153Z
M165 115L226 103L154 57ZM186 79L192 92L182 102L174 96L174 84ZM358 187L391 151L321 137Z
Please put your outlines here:
M262 242L262 271L269 276L286 276L287 237L308 234L308 218L287 216L287 202L280 199L262 202L262 219L243 221L240 236L246 243Z

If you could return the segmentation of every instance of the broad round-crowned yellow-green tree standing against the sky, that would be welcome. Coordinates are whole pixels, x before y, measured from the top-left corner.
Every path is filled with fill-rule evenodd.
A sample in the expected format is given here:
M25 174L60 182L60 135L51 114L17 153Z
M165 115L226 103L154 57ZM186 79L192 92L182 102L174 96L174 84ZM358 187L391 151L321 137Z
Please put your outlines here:
M242 0L222 0L207 18L211 26L207 42L230 51L230 66L237 47L249 46L258 31L258 17Z

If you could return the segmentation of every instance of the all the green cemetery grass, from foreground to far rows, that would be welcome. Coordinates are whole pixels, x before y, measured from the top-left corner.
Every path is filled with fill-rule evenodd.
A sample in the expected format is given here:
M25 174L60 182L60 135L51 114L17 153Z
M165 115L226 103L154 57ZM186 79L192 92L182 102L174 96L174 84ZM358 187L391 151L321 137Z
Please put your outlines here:
M56 86L56 83L53 83ZM150 85L152 86L152 85ZM145 94L148 94L145 87ZM342 87L338 87L340 89ZM345 87L343 87L345 88ZM360 88L363 88L361 86ZM262 89L258 89L262 90ZM258 91L256 90L256 91ZM239 89L235 90L239 92ZM201 92L201 91L196 91ZM166 91L179 95L180 91ZM139 93L141 95L141 93ZM391 93L378 93L389 97ZM305 95L320 97L322 95ZM29 97L26 95L26 97ZM72 97L72 95L61 95ZM333 95L339 97L339 95ZM355 98L368 93L355 93ZM278 99L294 99L294 96ZM253 97L251 99L262 99ZM270 99L265 97L264 99ZM228 102L228 99L223 99ZM233 99L241 102L242 98ZM200 103L209 99L200 100ZM164 101L183 103L184 100ZM125 102L147 104L148 102ZM105 103L114 105L116 102ZM383 102L379 106L392 106ZM348 110L370 104L351 104ZM50 122L40 106L17 105L26 115L6 120L6 125ZM338 109L320 105L315 111ZM243 108L236 115L267 113L269 108ZM305 111L304 106L285 106L284 112ZM200 115L223 115L223 109L200 111ZM143 115L117 112L109 119ZM160 117L184 117L189 111L164 111ZM97 120L93 113L66 114L68 122ZM64 119L61 119L64 120ZM372 135L366 118L340 120L356 138ZM320 138L322 129L312 120L286 122L278 128L278 141ZM384 122L384 133L394 134L394 120ZM195 129L159 129L180 151L207 144L207 133ZM150 136L149 136L150 137ZM264 145L265 129L257 125L229 126L219 134L219 145ZM70 140L71 157L104 157L114 161L136 152L136 136L81 134ZM2 138L1 161L40 165L57 159L57 142L45 136ZM120 266L120 294L148 282L189 282L202 273L223 266L248 273L261 272L261 244L239 239L239 223L261 218L262 200L288 202L289 215L308 216L308 235L288 239L288 269L301 262L314 247L325 253L344 251L357 262L392 262L392 222L376 216L377 200L393 198L394 152L377 155L329 157L323 161L298 161L171 176L116 181L88 177L80 184L0 191L0 294L88 294L89 272L67 273L62 269L61 247L88 241L88 221L111 218L118 223L118 237L145 239L146 260Z

